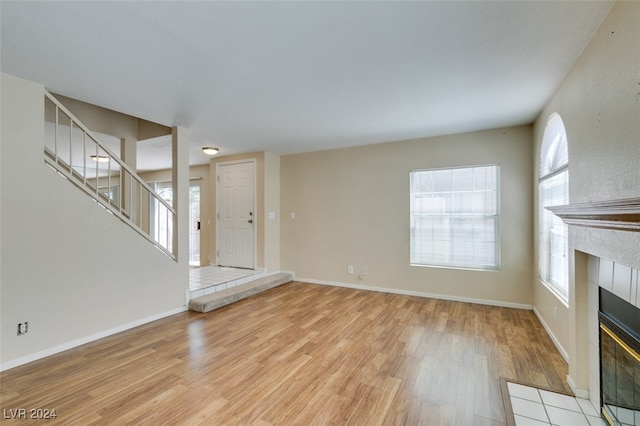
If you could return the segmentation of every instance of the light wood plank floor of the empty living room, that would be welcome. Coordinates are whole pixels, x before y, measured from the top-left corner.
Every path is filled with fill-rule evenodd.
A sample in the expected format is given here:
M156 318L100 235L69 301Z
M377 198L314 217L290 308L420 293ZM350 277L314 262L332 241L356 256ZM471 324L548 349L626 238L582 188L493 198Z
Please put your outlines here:
M497 425L499 378L569 391L531 311L290 283L0 374L3 424Z

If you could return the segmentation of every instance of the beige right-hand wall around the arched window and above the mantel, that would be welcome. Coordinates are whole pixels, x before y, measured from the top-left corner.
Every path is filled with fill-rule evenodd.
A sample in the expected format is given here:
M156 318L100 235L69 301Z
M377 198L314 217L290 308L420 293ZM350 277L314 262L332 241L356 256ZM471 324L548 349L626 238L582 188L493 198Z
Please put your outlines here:
M549 115L569 144L570 203L640 195L640 3L617 2L534 127L534 176ZM537 229L537 227L536 227ZM534 279L534 307L569 356L576 386L588 387L586 282L581 253L640 267L640 233L569 227L570 298L565 307ZM578 254L576 255L576 251ZM578 265L577 268L575 265ZM558 318L553 316L558 308Z

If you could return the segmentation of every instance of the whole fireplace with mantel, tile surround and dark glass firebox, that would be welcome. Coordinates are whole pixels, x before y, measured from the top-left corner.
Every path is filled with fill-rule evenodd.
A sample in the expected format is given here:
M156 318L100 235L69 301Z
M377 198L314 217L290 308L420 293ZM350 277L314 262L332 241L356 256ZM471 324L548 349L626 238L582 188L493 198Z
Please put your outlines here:
M570 257L575 262L570 276L575 285L570 315L577 352L568 358L569 385L600 408L609 424L638 426L640 197L547 209L571 225Z

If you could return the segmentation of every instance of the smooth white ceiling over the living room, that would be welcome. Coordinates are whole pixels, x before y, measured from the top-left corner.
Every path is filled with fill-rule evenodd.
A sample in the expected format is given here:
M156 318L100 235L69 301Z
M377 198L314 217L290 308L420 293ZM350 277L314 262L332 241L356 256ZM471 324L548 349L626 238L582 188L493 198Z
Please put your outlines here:
M190 128L197 164L531 123L612 4L2 1L0 65Z

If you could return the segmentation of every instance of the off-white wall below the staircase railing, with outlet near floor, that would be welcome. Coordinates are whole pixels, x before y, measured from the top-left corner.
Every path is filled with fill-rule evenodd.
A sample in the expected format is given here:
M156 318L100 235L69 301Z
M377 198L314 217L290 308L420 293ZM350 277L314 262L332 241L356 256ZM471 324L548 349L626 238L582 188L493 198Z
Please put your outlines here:
M184 310L188 266L44 164L43 86L0 87L1 367Z

